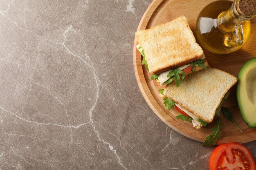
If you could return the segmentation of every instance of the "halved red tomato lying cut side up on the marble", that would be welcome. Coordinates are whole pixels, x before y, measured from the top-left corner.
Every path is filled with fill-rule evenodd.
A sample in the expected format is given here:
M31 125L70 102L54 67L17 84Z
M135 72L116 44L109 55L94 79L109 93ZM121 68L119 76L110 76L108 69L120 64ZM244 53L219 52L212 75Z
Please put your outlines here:
M209 170L255 170L255 162L251 152L242 144L223 144L211 153Z

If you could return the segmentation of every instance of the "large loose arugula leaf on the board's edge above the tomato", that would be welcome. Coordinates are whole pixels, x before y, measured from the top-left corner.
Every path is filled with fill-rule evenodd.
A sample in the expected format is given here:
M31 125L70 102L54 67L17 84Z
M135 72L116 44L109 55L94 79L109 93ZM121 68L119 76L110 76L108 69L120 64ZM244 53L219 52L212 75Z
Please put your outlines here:
M202 146L212 146L216 144L216 142L220 139L220 136L221 136L221 132L220 132L221 125L222 124L219 117L217 120L216 126L210 129L211 131L213 131L213 133L205 137L202 143Z

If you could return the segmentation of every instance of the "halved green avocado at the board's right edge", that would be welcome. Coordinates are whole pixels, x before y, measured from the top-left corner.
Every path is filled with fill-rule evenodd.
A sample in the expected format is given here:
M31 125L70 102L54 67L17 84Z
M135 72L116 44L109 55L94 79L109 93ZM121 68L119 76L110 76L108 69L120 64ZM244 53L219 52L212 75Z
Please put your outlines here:
M248 60L238 73L236 96L243 120L256 127L256 57Z

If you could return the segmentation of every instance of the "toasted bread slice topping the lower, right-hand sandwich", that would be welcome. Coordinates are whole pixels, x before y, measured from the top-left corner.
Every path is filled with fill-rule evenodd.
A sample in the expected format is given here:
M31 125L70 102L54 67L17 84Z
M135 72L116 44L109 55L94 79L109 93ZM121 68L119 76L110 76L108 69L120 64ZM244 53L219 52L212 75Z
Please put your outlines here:
M187 75L178 88L168 84L164 95L193 115L210 123L225 94L236 84L237 78L216 68Z

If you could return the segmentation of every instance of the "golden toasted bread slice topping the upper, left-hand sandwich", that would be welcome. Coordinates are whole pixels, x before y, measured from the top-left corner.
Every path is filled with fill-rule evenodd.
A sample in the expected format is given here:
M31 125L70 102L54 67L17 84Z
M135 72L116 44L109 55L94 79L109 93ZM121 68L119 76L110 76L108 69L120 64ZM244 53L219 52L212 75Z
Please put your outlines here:
M203 56L185 16L137 31L135 35L153 75L200 60Z

